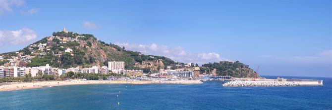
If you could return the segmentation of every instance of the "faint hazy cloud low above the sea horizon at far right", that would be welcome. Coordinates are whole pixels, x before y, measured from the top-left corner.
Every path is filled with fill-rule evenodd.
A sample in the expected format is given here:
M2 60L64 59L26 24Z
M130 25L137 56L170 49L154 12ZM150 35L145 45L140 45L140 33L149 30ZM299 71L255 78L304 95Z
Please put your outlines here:
M312 56L293 56L293 57L277 57L276 59L288 62L311 63L311 64L332 64L332 50L325 50Z

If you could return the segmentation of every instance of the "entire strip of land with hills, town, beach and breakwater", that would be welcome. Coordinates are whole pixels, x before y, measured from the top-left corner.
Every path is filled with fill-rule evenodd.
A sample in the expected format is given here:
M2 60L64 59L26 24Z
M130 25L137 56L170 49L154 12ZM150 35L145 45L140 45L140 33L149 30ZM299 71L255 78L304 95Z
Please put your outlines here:
M209 80L225 82L222 86L323 85L323 80L266 79L257 71L239 61L202 66L174 62L63 28L22 50L0 54L0 90L102 83L200 84ZM19 83L22 81L26 83Z

